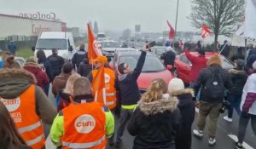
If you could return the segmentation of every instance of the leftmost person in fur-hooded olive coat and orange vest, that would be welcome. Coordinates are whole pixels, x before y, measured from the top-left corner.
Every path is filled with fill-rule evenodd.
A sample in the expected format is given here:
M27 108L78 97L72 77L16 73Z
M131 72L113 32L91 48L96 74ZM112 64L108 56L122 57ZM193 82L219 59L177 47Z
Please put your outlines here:
M0 100L7 107L15 126L28 146L44 148L43 123L51 124L57 114L35 85L36 79L21 69L0 69Z

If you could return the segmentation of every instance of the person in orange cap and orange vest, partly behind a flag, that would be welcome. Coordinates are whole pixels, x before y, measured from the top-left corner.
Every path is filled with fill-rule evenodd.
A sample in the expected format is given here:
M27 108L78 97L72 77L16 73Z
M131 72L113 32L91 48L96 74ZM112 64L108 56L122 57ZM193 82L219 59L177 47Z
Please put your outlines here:
M98 56L95 60L92 60L92 62L96 63L96 69L91 71L90 74L87 76L90 82L92 82L93 78L96 77L96 73L98 72L97 68L99 68L102 65L102 62L108 61L106 56ZM97 100L98 102L104 103L110 110L115 108L116 106L116 79L115 74L112 69L108 68L108 64L105 64L104 68L104 77L105 77L105 89L106 89L106 103L102 100Z

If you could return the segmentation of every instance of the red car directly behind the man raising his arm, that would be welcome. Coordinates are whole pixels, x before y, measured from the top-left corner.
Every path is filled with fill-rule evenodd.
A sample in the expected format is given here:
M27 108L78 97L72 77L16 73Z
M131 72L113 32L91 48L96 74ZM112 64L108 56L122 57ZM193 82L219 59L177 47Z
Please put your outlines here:
M140 51L116 52L109 66L116 71L119 64L128 63L131 70L133 70L137 65L140 54ZM141 93L144 93L148 89L148 84L155 78L162 78L168 84L173 77L172 73L166 69L166 66L162 64L160 59L155 54L148 52L143 66L143 72L137 79Z

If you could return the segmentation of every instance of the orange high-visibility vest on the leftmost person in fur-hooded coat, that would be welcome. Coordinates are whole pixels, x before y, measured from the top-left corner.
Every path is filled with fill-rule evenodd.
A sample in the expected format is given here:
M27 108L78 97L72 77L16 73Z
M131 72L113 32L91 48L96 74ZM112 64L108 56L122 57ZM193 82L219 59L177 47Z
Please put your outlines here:
M14 100L0 97L13 117L16 128L28 146L33 149L44 146L44 128L41 118L36 113L35 85L31 85L22 95Z

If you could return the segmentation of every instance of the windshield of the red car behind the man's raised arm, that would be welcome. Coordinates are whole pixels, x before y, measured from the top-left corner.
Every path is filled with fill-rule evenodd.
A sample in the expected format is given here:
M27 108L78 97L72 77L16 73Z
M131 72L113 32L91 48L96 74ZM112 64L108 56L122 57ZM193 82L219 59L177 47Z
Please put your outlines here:
M119 59L119 64L127 63L130 66L131 70L134 70L137 65L138 58L139 55L121 56ZM160 62L157 57L153 55L147 55L143 66L143 72L162 72L164 70L166 70L166 67Z

